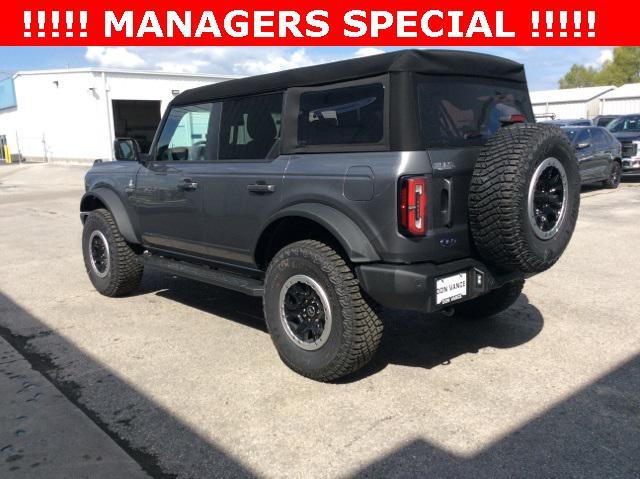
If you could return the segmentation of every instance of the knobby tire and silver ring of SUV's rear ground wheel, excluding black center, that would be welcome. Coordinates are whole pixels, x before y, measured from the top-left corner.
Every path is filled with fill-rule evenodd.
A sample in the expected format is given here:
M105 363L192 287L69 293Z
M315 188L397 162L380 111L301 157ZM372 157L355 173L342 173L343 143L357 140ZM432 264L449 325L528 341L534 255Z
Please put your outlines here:
M328 337L321 346L311 346L312 350L296 343L293 328L283 318L283 291L290 291L287 282L295 278L314 281L330 310ZM317 381L333 381L361 368L374 356L382 338L382 321L363 296L352 268L319 241L298 241L275 255L266 273L264 313L284 363Z

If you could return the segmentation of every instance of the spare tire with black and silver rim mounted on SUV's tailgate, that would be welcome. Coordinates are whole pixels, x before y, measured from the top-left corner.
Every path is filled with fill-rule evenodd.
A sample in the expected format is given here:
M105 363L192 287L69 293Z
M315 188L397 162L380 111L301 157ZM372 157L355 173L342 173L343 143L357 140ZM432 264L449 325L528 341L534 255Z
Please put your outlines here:
M539 273L569 244L580 175L567 136L552 125L501 128L476 161L469 225L483 260L503 272Z

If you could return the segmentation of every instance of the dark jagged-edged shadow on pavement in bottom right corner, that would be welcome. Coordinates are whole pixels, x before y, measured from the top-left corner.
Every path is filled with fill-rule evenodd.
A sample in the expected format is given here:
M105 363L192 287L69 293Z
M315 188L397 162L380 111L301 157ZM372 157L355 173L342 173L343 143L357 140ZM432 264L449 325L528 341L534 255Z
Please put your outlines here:
M640 477L640 355L479 454L415 440L355 477Z

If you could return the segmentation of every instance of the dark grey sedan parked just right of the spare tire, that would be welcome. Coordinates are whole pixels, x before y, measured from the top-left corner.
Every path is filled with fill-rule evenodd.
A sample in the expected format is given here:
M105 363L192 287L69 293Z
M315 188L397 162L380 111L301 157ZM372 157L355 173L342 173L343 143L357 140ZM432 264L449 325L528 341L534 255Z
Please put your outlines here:
M622 174L622 145L606 128L565 126L562 128L576 150L582 184L602 182L617 188Z

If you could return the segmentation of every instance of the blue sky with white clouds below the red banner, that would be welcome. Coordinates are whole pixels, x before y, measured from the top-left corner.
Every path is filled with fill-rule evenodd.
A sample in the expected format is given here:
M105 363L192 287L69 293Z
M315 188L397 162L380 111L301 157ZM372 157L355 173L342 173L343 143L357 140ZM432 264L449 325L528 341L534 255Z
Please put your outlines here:
M108 67L256 75L396 50L392 47L0 47L0 76L18 70ZM572 64L599 66L611 47L470 47L524 63L530 90L558 87Z

